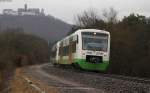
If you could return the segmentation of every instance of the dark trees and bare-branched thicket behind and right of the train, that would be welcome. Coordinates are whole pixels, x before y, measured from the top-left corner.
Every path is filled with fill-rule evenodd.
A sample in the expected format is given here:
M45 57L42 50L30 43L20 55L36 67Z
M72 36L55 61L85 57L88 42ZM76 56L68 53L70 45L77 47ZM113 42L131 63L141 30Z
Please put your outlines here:
M90 9L78 14L72 32L95 28L111 34L110 66L107 73L150 77L150 18L132 13L122 19L110 8L101 15ZM70 34L68 33L68 34Z

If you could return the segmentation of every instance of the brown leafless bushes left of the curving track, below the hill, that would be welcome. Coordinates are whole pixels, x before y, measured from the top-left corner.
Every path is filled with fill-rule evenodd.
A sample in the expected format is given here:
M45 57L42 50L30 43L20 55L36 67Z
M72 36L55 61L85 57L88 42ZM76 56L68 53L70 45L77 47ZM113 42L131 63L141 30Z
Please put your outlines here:
M15 68L49 61L47 41L22 29L0 31L0 93L9 86Z

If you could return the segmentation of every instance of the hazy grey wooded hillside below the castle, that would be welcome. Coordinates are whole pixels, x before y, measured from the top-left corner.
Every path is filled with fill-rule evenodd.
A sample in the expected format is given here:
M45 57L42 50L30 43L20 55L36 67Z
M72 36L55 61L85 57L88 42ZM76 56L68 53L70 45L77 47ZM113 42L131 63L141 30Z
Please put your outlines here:
M0 15L0 28L23 28L25 32L40 36L50 42L63 38L71 25L53 16Z

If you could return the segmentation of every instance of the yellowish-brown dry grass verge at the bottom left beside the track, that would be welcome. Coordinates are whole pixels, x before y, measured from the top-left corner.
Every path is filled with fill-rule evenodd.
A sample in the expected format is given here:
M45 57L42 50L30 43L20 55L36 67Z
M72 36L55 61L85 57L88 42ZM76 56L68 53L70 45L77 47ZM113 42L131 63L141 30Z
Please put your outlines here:
M24 74L21 69L17 69L15 72L14 79L11 82L11 93L40 93L30 86L23 77L29 78L33 84L38 86L41 90L44 90L46 93L56 93L55 89L47 86L39 80L33 79L31 76Z

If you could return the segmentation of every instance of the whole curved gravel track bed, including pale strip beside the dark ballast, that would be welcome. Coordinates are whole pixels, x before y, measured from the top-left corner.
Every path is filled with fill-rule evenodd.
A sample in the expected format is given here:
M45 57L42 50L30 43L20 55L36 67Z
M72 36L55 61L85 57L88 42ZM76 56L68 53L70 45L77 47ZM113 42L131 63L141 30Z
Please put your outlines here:
M56 88L58 93L150 93L150 81L89 72L52 64L33 66L27 73ZM69 92L68 92L69 91Z

